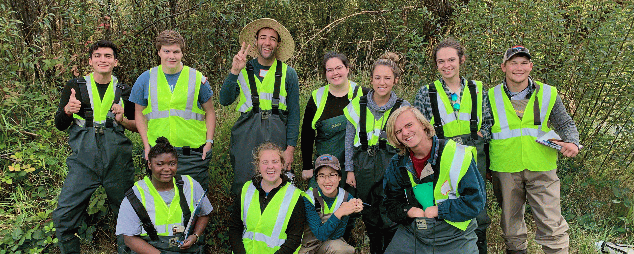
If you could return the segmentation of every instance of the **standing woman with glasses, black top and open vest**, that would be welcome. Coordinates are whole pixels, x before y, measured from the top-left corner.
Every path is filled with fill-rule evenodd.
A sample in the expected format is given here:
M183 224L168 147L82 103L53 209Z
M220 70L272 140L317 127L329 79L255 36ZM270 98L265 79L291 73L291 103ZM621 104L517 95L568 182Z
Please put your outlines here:
M332 154L343 158L347 122L344 108L355 97L366 95L370 91L370 88L348 80L350 68L344 54L327 52L321 61L321 68L328 84L313 90L306 104L302 123L302 178L311 179L309 188L317 186L313 172L313 161L316 158L313 143L317 148L317 155ZM343 183L346 183L345 175L341 187L346 188Z

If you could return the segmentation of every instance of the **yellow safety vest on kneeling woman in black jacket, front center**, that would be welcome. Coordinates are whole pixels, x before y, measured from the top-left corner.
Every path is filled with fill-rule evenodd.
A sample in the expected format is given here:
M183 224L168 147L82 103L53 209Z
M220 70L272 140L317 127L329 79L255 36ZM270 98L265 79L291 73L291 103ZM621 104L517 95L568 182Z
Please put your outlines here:
M286 183L261 212L259 191L252 181L242 186L240 204L245 231L242 243L247 253L275 253L287 239L286 229L297 200L304 193ZM299 252L300 246L294 253Z

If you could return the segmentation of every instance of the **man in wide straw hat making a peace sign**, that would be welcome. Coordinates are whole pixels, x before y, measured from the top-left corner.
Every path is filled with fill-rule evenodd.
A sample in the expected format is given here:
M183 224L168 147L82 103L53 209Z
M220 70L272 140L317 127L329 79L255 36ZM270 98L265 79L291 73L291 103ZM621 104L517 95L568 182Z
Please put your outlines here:
M272 140L285 149L290 169L299 136L299 82L295 69L282 61L293 55L295 42L278 21L261 18L240 32L242 47L220 90L220 104L239 98L240 118L231 128L231 192L238 193L252 176L252 149ZM245 47L246 45L246 47ZM254 57L247 62L247 54Z

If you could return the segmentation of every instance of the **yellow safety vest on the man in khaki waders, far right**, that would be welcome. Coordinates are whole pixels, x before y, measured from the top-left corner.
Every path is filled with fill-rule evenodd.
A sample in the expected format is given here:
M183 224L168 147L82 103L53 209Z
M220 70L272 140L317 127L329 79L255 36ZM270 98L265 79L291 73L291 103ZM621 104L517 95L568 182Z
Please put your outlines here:
M498 172L549 171L557 168L557 150L535 142L548 128L548 118L555 105L557 88L534 82L536 90L528 100L520 119L504 92L503 84L489 90L495 123L491 127L491 170ZM540 125L534 124L533 105L538 100Z

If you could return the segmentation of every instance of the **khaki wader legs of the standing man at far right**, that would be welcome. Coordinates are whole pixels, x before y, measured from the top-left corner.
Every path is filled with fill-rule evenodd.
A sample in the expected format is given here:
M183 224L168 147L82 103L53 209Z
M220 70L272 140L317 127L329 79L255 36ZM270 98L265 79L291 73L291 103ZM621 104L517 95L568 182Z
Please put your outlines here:
M500 227L507 250L526 250L524 211L531 205L537 226L535 241L545 254L568 253L568 224L561 215L557 169L534 172L492 172L493 191L500 203Z

